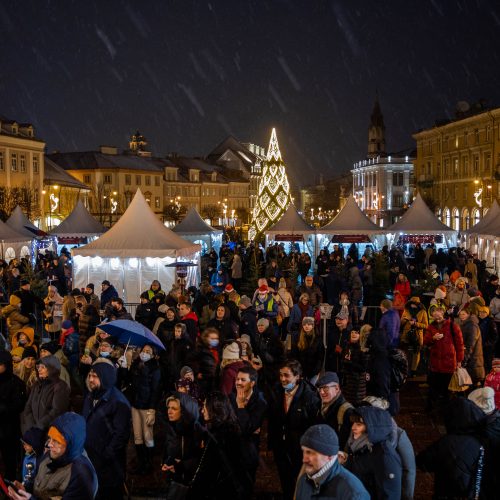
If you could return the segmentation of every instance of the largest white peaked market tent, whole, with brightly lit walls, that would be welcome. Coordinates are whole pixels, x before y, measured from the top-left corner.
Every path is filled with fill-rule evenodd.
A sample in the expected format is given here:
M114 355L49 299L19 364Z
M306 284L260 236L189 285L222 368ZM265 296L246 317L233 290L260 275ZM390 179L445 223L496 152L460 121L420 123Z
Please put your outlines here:
M151 210L140 189L118 222L100 238L73 248L73 286L109 280L125 302L138 302L151 282L159 280L168 290L175 282L176 261L194 261L187 284L199 273L200 245L167 229Z

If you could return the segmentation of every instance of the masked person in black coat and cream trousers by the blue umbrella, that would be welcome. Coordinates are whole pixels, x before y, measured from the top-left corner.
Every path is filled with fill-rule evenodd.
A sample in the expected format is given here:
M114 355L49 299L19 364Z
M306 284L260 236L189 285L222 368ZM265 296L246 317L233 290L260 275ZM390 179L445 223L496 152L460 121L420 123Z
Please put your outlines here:
M146 344L141 349L139 357L132 362L127 381L130 386L134 442L139 452L135 473L148 474L153 469L153 426L161 396L160 367L152 345Z

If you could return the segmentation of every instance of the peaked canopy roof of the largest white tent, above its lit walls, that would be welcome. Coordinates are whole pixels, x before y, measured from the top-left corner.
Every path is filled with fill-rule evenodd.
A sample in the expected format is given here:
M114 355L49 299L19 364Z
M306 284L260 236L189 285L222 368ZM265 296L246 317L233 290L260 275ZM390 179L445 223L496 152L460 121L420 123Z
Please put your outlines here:
M200 250L167 229L156 217L138 189L118 222L100 238L72 250L90 257L181 257Z

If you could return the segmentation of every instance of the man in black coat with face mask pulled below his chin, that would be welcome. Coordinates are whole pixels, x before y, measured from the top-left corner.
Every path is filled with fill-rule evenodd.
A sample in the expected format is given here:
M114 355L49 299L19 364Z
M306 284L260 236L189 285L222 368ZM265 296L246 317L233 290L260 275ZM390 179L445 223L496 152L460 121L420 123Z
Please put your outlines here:
M320 403L316 392L302 380L298 361L285 361L279 377L280 382L268 399L268 448L273 451L283 498L289 500L302 466L300 438L315 423Z

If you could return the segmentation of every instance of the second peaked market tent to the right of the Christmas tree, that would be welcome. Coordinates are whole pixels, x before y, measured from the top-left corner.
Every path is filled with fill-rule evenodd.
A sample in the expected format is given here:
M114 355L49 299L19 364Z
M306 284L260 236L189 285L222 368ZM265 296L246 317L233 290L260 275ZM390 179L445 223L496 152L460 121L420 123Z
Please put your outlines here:
M328 238L335 241L345 240L346 242L363 242L364 238L382 246L386 231L374 224L359 208L354 196L349 196L346 204L340 212L326 225L318 229L318 235L328 235ZM365 240L366 242L366 240ZM320 245L321 247L324 245Z

